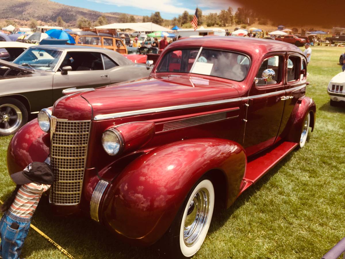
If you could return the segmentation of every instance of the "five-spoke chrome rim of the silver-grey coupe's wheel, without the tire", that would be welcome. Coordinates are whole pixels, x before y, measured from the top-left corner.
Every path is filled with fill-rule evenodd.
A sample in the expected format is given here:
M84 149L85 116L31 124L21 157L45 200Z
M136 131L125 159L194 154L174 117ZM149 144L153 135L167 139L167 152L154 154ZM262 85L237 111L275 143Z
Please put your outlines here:
M21 122L22 113L16 105L0 105L0 133L11 133L17 130Z

